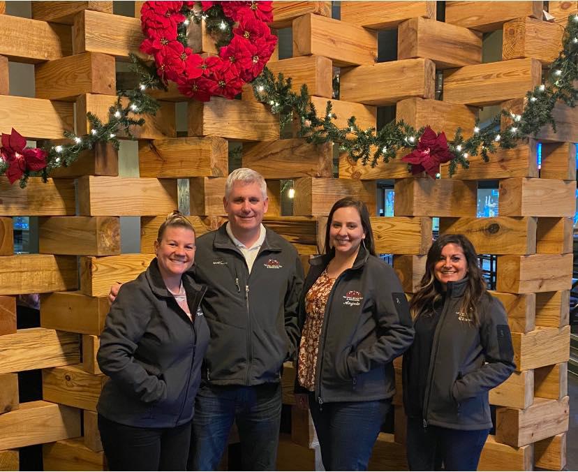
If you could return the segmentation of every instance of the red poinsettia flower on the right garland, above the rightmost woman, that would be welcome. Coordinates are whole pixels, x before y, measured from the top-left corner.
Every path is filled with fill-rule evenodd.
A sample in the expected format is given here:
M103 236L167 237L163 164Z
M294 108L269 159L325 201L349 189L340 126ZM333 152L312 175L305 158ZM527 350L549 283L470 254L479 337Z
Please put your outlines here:
M411 164L411 172L419 174L424 170L430 177L436 178L440 171L440 164L451 161L454 155L447 148L445 133L436 135L429 126L425 128L417 147L410 154L403 156L402 161Z

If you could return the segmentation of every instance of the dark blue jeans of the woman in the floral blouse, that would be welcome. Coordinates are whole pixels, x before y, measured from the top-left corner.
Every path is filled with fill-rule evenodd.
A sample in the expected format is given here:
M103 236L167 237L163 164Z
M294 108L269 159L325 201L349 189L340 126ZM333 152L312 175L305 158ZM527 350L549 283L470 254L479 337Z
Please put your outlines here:
M309 395L309 409L326 471L365 471L390 400L338 401L320 406Z

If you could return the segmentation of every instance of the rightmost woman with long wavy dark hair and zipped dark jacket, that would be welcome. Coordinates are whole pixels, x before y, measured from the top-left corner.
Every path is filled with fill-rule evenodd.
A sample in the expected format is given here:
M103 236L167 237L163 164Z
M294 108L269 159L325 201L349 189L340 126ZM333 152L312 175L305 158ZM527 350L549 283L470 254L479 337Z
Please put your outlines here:
M410 310L415 341L403 355L410 470L475 471L491 428L488 391L515 364L504 307L487 292L468 238L434 242Z

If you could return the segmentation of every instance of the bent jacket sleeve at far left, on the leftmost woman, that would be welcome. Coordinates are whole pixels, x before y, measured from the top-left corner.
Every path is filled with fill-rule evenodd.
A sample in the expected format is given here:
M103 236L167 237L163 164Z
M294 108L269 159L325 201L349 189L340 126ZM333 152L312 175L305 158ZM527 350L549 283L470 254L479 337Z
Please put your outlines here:
M129 396L146 403L166 397L166 384L135 361L134 353L144 334L151 310L134 285L121 286L105 321L98 348L98 366Z

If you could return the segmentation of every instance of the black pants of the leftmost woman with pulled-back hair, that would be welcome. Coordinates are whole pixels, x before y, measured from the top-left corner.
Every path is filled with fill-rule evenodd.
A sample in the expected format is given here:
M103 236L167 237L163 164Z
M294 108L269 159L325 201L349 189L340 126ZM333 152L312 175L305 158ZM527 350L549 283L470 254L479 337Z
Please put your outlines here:
M98 415L110 471L184 471L191 422L174 428L138 428Z

